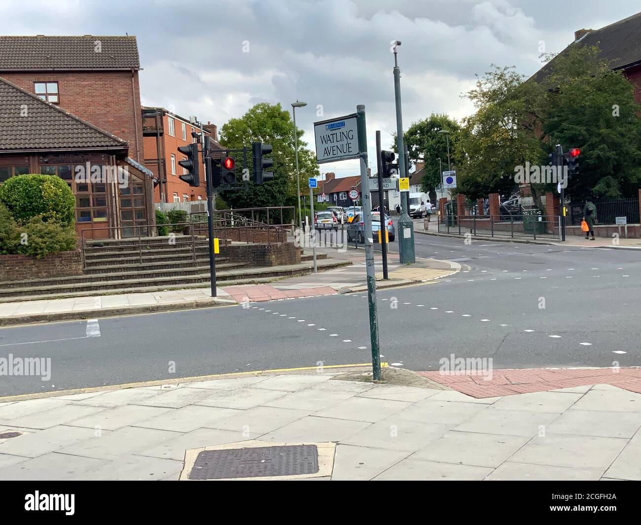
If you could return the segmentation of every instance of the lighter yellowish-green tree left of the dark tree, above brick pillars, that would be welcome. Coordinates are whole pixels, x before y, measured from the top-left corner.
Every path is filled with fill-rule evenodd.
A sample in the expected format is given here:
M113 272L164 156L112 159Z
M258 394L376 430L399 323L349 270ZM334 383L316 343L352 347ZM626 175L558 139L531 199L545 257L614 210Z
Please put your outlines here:
M493 67L466 94L476 113L463 119L456 152L457 192L472 199L490 193L509 196L517 189L515 167L545 159L537 136L538 86L524 83L514 67Z

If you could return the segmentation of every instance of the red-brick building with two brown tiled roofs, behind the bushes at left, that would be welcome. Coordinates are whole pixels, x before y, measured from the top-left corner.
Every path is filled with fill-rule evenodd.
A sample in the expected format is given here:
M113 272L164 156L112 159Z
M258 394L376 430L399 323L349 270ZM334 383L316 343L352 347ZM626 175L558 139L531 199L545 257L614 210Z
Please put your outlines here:
M0 183L24 172L65 179L88 238L128 237L153 223L138 71L135 37L0 37ZM78 177L85 166L120 167L128 183Z

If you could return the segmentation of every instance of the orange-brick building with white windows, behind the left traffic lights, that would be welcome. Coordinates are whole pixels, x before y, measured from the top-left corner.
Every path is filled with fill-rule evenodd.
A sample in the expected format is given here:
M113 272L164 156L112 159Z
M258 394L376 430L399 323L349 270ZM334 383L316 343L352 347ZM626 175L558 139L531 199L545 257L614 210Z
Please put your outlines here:
M203 128L205 135L213 138L215 144L220 146L216 126L209 122ZM154 202L184 203L206 200L204 166L201 167L200 187L190 187L179 178L180 175L186 174L187 170L178 165L179 161L186 160L178 151L178 147L194 142L196 138L192 133L199 131L200 128L196 128L189 119L165 108L142 108L144 165L158 179L158 185L154 189Z

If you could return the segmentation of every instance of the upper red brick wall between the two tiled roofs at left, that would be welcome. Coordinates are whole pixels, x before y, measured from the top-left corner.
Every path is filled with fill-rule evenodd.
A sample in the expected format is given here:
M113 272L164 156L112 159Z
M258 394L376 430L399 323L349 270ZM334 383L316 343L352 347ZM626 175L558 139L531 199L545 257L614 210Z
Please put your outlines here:
M3 78L33 93L35 82L58 82L60 108L129 144L129 156L144 162L138 72L4 72ZM138 133L136 133L138 131ZM138 147L140 156L138 156Z

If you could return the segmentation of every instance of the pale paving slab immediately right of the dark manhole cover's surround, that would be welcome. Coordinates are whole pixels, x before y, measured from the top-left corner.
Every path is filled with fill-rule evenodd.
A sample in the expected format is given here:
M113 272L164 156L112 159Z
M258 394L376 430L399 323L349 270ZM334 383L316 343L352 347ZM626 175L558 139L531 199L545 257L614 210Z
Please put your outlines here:
M334 481L367 481L405 458L406 451L338 445L334 456Z

